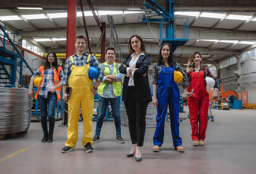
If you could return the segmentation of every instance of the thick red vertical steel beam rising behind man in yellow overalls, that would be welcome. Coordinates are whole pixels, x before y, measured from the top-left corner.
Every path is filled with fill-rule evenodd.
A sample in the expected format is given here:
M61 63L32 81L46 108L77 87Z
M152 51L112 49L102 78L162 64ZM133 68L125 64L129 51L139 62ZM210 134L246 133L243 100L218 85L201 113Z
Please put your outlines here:
M77 24L77 0L67 0L67 41L66 41L66 60L67 57L74 55L74 41L76 37Z

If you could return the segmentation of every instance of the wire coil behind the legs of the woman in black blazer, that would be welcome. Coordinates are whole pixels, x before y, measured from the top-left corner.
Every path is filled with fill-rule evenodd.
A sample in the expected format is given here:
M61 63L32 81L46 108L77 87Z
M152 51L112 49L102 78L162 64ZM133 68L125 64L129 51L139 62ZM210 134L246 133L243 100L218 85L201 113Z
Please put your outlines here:
M156 107L153 105L153 102L149 102L146 114L146 128L156 127L156 114ZM120 119L121 125L124 127L128 127L128 117L126 114L125 105L123 101L121 101L120 105Z

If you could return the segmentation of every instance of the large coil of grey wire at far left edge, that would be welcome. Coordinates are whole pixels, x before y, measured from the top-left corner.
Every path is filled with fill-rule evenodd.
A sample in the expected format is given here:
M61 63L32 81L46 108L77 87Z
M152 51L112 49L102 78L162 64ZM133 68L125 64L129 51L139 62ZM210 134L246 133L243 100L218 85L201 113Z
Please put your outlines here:
M30 120L28 89L0 87L0 135L26 131Z

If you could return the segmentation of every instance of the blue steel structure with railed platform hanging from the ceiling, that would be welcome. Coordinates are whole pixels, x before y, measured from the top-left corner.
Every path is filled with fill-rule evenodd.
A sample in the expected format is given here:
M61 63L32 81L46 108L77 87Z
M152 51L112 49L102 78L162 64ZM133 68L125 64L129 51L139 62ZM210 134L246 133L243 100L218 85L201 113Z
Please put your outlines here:
M178 46L184 45L189 40L189 20L186 17L174 16L174 0L165 0L167 9L164 9L155 0L146 0L143 2L143 18L142 22L160 22L159 28L159 43L169 43L172 45L172 51L174 52ZM161 18L150 18L145 12L149 8L156 12ZM181 33L177 36L177 23L181 25Z

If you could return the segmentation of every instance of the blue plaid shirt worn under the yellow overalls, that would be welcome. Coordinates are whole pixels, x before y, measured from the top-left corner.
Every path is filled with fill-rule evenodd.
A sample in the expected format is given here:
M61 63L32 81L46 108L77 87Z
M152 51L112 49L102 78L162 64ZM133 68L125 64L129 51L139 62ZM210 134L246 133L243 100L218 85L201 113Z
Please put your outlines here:
M79 58L77 56L77 53L75 53L73 55L75 67L82 67L82 66L87 65L88 64L88 62L87 62L88 56L89 56L89 54L84 52L84 55L82 55L82 57ZM91 57L90 57L89 66L96 67L99 70L97 80L102 81L103 77L104 77L103 70L102 70L102 67L100 66L100 63L98 62L98 60L96 59L96 57L94 55L91 55ZM71 75L71 72L72 72L72 62L71 62L70 57L68 57L66 60L66 64L65 64L64 77L63 77L63 82L62 82L63 85L69 84L68 79L69 79L69 76Z

